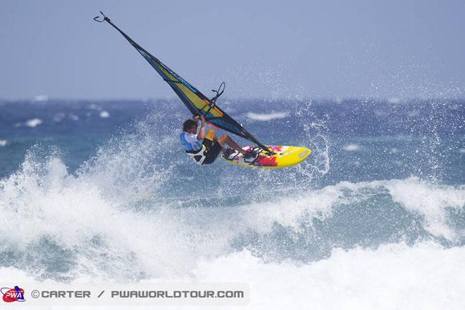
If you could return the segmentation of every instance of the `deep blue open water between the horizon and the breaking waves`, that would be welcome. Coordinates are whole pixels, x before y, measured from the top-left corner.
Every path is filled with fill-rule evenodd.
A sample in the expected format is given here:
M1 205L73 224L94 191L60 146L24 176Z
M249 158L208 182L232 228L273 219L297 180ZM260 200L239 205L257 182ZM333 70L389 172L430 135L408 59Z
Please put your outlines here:
M75 172L110 138L137 134L137 123L150 126L154 139L170 138L189 117L176 101L4 101L0 107L0 140L5 141L0 176L15 172L32 146L56 147ZM263 143L330 149L325 156L333 169L320 178L324 183L408 176L464 182L464 101L256 100L226 101L223 107ZM156 117L159 121L151 119ZM177 143L169 148L168 153L179 153Z

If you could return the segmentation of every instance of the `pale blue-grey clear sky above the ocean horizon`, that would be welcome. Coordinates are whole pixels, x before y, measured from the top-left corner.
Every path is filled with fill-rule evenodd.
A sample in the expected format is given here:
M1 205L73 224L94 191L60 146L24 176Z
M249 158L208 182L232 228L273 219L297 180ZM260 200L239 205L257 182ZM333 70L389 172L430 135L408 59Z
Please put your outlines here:
M0 98L464 98L465 1L1 0Z

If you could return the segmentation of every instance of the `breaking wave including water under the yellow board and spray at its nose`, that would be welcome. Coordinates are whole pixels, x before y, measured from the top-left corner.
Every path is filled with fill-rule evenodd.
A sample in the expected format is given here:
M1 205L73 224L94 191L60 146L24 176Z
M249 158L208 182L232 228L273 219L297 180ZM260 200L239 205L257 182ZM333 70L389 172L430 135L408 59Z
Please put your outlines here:
M280 174L193 165L173 148L179 129L162 116L135 122L73 173L59 152L29 150L0 181L0 267L22 266L36 280L137 281L207 274L202 264L213 270L246 255L256 268L278 266L285 281L287 262L322 266L337 251L464 247L465 186L418 177L315 182L331 173L324 123L302 120L299 142L314 145L312 160Z

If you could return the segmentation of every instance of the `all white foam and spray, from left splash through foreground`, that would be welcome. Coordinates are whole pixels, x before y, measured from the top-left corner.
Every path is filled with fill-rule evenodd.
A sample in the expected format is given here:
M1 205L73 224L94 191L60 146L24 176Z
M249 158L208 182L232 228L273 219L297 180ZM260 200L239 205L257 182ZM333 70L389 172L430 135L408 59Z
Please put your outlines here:
M419 215L419 225L431 235L459 245L460 231L450 226L447 209L464 208L465 186L416 178L340 182L237 206L182 207L179 200L161 199L173 166L150 160L175 143L174 135L156 140L153 126L138 126L137 134L99 148L75 174L58 155L44 160L28 153L18 172L0 181L0 252L23 269L0 269L2 280L56 273L75 281L240 281L252 288L249 309L459 307L464 247L401 243L366 250L352 244L352 250L333 249L330 257L313 262L289 256L280 262L262 259L260 249L237 250L232 244L247 233L261 240L277 226L310 243L302 239L314 219L325 223L351 205L386 200ZM292 238L282 240L283 247L297 242Z

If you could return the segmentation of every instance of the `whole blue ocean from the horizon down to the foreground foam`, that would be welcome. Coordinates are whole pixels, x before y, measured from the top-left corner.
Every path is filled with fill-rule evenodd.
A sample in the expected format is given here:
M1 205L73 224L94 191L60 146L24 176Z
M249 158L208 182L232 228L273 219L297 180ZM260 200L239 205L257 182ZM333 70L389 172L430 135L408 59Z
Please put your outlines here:
M253 288L276 268L315 276L318 263L341 256L353 270L385 260L402 281L409 261L425 268L412 271L420 277L437 269L423 266L428 255L450 255L456 269L436 270L435 280L447 286L461 274L465 101L220 105L263 143L304 146L311 156L278 170L221 159L198 166L178 141L190 115L177 100L1 101L0 270L57 281L192 276ZM244 260L261 273L231 278L218 267L212 276L221 264L240 275Z

